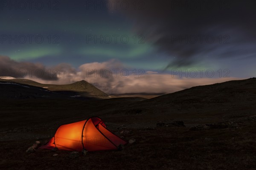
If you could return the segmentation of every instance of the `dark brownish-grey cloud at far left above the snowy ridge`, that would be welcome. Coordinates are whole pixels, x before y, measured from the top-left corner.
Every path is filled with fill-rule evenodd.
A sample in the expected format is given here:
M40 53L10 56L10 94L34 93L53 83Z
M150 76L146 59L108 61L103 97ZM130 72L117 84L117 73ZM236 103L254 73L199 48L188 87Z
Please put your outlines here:
M40 63L17 62L9 57L0 56L0 77L5 76L58 80L58 70L46 68Z

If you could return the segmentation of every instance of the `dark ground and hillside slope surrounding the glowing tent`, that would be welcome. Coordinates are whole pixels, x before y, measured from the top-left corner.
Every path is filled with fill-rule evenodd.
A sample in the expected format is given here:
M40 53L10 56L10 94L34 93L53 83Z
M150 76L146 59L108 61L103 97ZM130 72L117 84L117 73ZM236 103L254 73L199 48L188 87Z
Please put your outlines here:
M15 93L44 89L24 84L5 86L0 87L1 94L6 89L10 93L9 88ZM0 168L255 170L255 105L255 78L197 86L152 99L0 97ZM63 150L26 153L36 140L47 142L60 125L90 116L99 116L113 133L136 142L121 151L79 153L77 158L70 158L70 151ZM191 130L197 125L209 128Z

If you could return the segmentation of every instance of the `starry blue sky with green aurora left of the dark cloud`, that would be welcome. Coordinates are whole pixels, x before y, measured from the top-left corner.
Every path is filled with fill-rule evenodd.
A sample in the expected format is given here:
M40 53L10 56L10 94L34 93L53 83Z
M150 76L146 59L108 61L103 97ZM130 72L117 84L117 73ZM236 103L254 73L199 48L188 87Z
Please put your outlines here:
M150 43L134 43L133 37L137 34L127 20L108 10L85 10L86 7L80 3L85 4L82 1L76 4L60 2L58 10L3 8L1 55L46 65L61 61L79 66L81 62L102 62L113 58L130 61L151 53ZM38 35L40 37L36 37ZM114 35L118 36L116 42ZM16 42L12 40L15 36ZM88 40L88 36L109 36L113 40L109 44L99 40L94 43L94 40ZM127 36L128 43L122 43L121 36ZM44 39L42 42L41 37Z

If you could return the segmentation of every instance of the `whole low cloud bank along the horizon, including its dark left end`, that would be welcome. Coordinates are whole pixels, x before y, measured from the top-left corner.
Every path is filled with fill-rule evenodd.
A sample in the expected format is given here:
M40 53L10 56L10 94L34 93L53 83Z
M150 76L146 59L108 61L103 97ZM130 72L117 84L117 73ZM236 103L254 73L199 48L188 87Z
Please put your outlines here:
M121 62L92 62L78 69L62 63L46 68L40 63L16 62L0 56L0 76L32 79L44 84L70 84L85 80L107 94L172 93L198 85L225 82L230 78L192 78L125 67Z

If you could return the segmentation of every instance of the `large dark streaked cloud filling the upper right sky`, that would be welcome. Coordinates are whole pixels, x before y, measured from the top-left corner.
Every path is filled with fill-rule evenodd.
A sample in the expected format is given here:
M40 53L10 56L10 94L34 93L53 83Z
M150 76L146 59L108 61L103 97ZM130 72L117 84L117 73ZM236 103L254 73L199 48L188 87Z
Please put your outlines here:
M125 1L130 7L117 6L117 11L134 21L137 34L172 59L167 67L191 65L209 54L220 59L256 51L253 0Z

